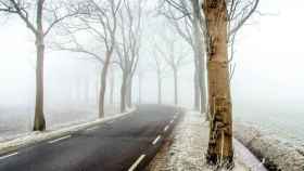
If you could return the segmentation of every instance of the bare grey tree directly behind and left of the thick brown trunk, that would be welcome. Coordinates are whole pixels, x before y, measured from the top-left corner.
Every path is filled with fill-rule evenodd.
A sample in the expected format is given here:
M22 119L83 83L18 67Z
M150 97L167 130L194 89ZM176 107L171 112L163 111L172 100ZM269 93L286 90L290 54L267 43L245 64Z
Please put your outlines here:
M165 5L165 2L167 5ZM176 29L178 35L192 48L194 62L194 108L206 111L205 51L200 26L200 13L195 13L195 0L161 1L160 13ZM199 8L200 11L200 8Z

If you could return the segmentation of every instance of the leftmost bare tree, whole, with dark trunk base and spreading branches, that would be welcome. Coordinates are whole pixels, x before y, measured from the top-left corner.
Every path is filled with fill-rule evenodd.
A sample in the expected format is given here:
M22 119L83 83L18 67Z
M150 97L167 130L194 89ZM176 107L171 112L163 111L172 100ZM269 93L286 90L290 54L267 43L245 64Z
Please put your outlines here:
M46 129L43 114L45 39L55 25L78 13L77 11L71 13L63 10L64 6L63 2L48 3L45 0L37 0L35 2L30 0L0 0L0 12L18 16L35 36L37 52L35 131L43 131ZM30 15L31 13L35 14ZM46 26L46 29L43 29L43 26Z

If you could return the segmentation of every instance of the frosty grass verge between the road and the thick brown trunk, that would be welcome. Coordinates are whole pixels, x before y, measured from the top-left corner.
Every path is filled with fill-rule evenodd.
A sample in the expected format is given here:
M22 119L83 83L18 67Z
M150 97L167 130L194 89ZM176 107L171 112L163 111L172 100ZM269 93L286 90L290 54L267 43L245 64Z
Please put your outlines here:
M206 165L208 122L204 116L188 111L148 167L150 171L213 171ZM235 171L249 171L236 159Z

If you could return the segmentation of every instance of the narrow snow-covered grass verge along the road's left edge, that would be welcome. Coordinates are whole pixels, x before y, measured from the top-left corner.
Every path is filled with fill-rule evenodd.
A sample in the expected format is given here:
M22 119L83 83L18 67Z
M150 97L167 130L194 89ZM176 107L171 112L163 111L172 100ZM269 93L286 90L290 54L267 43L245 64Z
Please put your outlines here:
M5 154L5 153L14 150L18 147L34 144L36 142L55 139L59 136L71 134L73 132L76 132L76 131L79 131L83 129L94 127L97 124L101 124L109 120L113 120L113 119L123 117L125 115L132 114L135 110L136 110L136 108L134 107L134 108L129 108L128 111L126 111L126 113L112 115L112 116L101 118L101 119L94 119L94 120L91 120L88 122L83 122L83 123L78 122L77 124L75 122L74 123L72 122L66 127L54 128L54 129L50 129L50 130L47 130L43 132L26 133L17 139L0 143L0 154Z

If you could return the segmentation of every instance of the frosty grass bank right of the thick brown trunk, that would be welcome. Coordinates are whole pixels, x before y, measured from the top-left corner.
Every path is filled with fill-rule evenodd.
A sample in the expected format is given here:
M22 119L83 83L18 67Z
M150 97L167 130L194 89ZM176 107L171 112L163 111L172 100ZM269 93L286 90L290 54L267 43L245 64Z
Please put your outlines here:
M250 148L269 170L304 171L303 147L246 123L235 124L235 135Z

